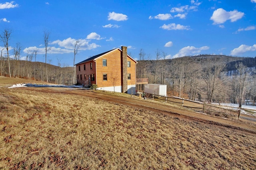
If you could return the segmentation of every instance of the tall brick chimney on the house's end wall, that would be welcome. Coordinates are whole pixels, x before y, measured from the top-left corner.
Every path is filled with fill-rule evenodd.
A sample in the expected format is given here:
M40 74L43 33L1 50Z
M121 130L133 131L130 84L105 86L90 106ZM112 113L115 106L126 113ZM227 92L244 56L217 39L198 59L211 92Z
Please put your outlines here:
M121 66L122 66L122 92L127 93L128 88L128 77L127 77L127 47L122 46L122 53L121 53Z

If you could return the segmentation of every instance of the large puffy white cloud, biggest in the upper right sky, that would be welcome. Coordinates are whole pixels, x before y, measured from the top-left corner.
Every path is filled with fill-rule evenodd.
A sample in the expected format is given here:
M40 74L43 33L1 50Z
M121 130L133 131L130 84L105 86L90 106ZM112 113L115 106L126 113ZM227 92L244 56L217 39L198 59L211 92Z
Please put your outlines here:
M237 10L227 12L222 8L218 8L212 14L210 20L213 20L213 24L221 24L230 20L231 22L240 20L244 16L243 12L238 12Z

